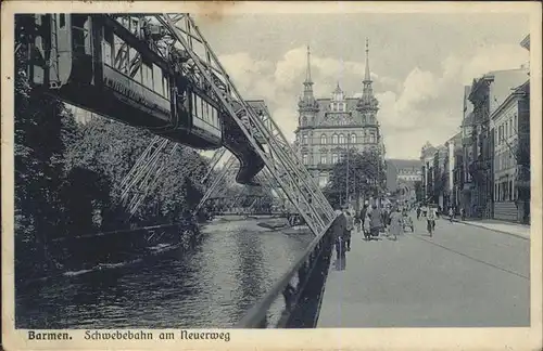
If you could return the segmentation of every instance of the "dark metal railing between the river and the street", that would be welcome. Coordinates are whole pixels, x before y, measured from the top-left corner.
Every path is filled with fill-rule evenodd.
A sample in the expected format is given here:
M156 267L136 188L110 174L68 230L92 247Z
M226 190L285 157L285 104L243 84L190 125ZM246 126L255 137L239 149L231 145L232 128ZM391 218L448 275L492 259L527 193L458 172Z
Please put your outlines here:
M300 255L291 269L237 324L239 328L315 327L332 255L332 231L337 217ZM282 311L276 321L270 309L282 295Z

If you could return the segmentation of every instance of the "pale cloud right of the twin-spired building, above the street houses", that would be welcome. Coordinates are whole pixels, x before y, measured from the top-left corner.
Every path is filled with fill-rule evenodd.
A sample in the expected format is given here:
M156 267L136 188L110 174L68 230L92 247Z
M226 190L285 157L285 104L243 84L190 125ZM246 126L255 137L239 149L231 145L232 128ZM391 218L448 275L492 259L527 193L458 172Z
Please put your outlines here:
M416 157L426 141L442 144L458 131L463 86L491 70L518 68L528 52L518 46L480 48L471 54L449 56L439 73L415 67L399 93L378 92L378 115L390 157Z

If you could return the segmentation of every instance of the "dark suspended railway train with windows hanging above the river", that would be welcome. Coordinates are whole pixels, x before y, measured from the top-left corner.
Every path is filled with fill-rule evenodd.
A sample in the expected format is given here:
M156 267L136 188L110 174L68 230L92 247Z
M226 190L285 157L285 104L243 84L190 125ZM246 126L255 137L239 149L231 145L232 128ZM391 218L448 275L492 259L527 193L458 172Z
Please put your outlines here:
M25 15L23 23L31 28L35 89L194 148L225 146L240 159L239 183L264 167L220 103L151 50L142 28L101 14Z

